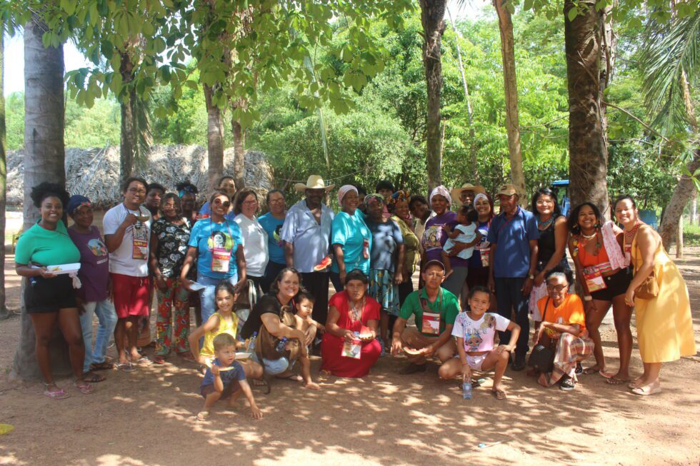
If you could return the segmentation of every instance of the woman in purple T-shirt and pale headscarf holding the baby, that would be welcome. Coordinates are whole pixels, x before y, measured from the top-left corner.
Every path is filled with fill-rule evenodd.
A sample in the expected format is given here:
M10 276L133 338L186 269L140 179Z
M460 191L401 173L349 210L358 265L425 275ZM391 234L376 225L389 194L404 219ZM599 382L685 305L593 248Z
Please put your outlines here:
M452 198L449 191L444 186L437 186L431 191L428 202L435 216L426 222L425 232L421 243L423 244L424 253L421 257L421 265L429 260L439 260L442 262L442 251L447 241L447 233L443 227L449 226L454 229L456 226L456 213L449 210ZM450 250L450 265L452 273L442 283L442 288L449 290L455 296L461 293L462 285L466 280L466 275L469 269L469 259L463 259L456 254L466 247L466 244L456 244ZM454 254L454 255L453 255Z

